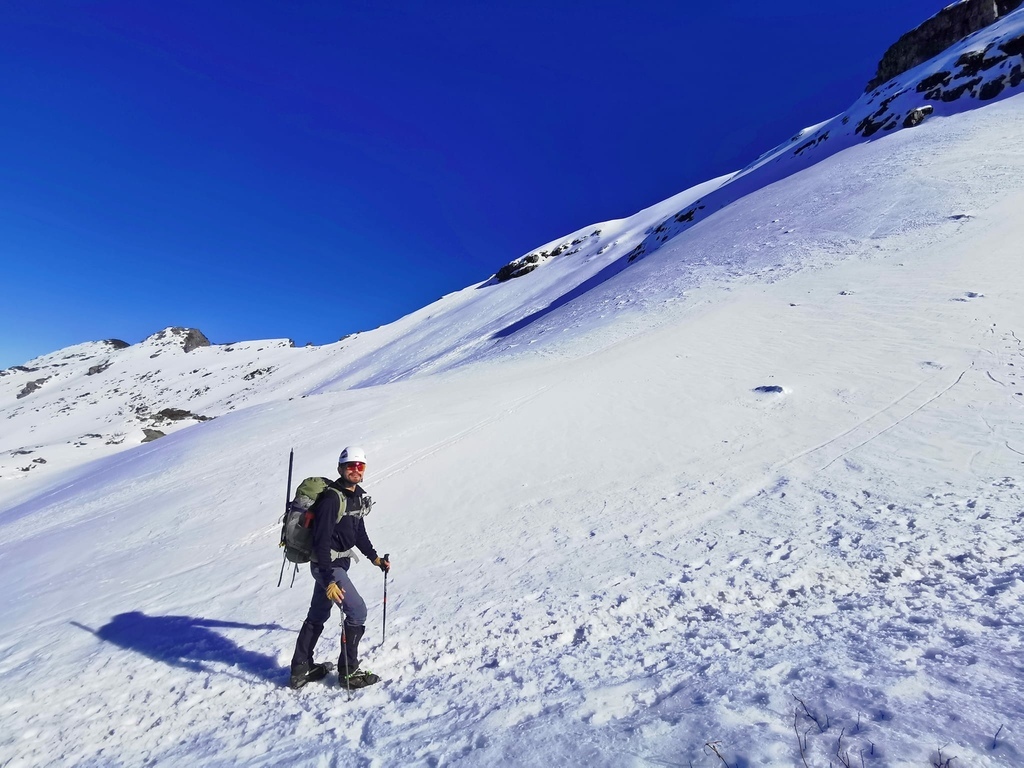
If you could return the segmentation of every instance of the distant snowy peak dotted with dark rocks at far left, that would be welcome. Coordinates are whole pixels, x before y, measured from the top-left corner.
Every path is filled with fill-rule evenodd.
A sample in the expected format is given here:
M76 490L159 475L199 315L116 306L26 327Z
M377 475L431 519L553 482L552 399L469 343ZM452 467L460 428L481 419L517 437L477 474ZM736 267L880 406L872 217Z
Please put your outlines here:
M187 354L207 347L195 355ZM0 482L57 471L265 401L288 339L211 344L169 327L141 342L88 341L0 371ZM28 458L26 458L28 457Z

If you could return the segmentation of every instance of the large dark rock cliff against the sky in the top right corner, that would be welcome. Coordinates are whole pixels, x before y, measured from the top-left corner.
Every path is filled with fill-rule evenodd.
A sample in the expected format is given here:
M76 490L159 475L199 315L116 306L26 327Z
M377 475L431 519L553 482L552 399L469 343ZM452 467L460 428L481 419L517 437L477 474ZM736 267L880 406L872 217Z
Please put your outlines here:
M953 43L1020 7L1024 0L963 0L906 33L885 52L865 92L937 56Z

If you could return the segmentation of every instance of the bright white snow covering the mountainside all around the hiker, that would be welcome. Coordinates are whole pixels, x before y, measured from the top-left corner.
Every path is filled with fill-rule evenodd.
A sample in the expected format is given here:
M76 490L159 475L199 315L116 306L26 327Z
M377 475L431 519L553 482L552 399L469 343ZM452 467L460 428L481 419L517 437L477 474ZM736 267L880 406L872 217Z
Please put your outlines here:
M60 409L156 352L18 399L62 453L0 479L0 763L1024 765L1024 100L852 144L626 266L722 183L332 347L165 349L168 381L220 360L218 418L155 442L76 458L98 412ZM384 683L293 691L288 452L301 478L351 443L393 562L386 637L380 571L351 571Z

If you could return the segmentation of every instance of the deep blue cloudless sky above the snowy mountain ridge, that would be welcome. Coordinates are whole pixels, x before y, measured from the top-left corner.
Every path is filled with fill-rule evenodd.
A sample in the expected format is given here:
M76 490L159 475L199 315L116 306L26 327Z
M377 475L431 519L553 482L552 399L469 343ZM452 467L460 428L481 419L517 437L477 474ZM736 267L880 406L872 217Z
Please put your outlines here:
M947 0L6 0L0 368L327 343L735 170Z

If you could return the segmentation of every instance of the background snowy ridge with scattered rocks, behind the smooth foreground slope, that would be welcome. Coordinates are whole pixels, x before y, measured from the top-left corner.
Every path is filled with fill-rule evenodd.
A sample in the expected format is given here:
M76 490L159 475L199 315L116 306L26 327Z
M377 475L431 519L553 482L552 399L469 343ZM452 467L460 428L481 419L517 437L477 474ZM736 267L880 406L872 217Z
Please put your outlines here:
M167 433L195 424L196 417L215 418L283 396L374 386L523 346L544 347L551 337L540 339L528 328L552 313L578 330L603 328L629 306L615 289L603 301L590 300L605 282L734 201L837 152L1018 92L1022 41L1024 13L1018 11L734 174L626 219L584 227L499 271L523 276L471 286L336 344L294 348L269 340L184 353L181 339L167 329L128 349L78 345L0 372L0 418L7 426L0 436L0 486L136 445L146 429ZM670 275L674 281L701 263L688 251L676 252L683 255ZM702 258L719 267L742 263L742 257L721 251ZM162 412L178 418L161 418ZM39 424L43 417L45 428Z

